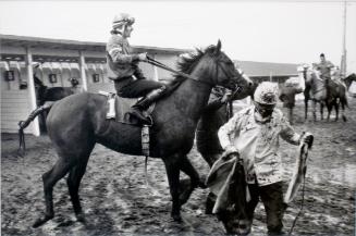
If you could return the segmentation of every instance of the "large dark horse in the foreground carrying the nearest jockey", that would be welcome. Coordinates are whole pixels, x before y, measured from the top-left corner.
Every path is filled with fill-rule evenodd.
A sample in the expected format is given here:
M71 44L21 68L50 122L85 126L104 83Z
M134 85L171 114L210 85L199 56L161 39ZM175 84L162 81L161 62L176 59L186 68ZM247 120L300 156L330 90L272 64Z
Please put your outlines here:
M171 215L181 221L180 171L191 177L194 187L200 178L186 154L193 147L194 133L210 90L216 85L228 88L248 86L233 62L221 52L221 44L185 58L180 70L195 77L185 79L168 97L159 100L152 112L155 124L150 127L150 156L163 160L170 192ZM179 76L177 76L179 77ZM114 151L143 156L139 126L106 120L107 98L97 94L83 92L56 102L47 117L48 135L59 154L54 166L42 175L46 213L34 227L54 216L52 191L56 183L66 173L67 186L75 215L84 221L78 188L85 174L95 144Z

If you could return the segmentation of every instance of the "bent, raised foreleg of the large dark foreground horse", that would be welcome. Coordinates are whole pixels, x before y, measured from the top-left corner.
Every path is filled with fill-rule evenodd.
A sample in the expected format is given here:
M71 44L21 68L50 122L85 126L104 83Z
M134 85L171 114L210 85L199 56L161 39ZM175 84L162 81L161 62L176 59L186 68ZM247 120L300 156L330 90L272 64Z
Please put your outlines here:
M206 185L200 179L198 172L194 169L186 156L184 156L181 160L181 171L191 177L191 183L188 184L180 182L180 201L182 206L187 202L196 187L206 188Z

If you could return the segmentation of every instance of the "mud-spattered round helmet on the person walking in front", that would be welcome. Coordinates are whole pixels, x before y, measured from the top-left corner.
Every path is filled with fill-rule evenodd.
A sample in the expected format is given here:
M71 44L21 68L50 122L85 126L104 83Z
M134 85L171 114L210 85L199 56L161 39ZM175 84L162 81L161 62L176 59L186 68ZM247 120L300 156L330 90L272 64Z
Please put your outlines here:
M278 85L272 82L262 82L256 88L254 98L260 104L275 104L278 98Z

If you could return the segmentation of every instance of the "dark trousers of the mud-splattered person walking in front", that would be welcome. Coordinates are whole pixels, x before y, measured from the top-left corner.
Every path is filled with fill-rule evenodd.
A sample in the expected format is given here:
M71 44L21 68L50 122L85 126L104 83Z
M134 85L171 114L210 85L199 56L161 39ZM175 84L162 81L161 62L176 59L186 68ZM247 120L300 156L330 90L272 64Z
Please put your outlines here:
M259 199L261 199L267 214L268 235L283 235L283 214L286 204L283 202L282 182L267 186L257 184L248 185L251 200L246 206L246 213L250 221L254 219L254 212Z

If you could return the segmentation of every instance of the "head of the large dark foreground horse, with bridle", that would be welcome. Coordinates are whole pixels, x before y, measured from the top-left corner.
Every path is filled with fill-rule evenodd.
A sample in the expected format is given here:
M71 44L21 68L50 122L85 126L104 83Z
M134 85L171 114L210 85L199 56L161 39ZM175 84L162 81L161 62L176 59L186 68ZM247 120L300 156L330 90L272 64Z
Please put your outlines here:
M211 86L223 86L236 90L237 88L249 88L253 82L241 70L237 70L232 60L221 51L221 41L217 46L210 46L205 51L198 50L197 54L192 54L185 62L196 62L191 70L183 70L199 78L202 83ZM181 64L182 69L182 64Z

